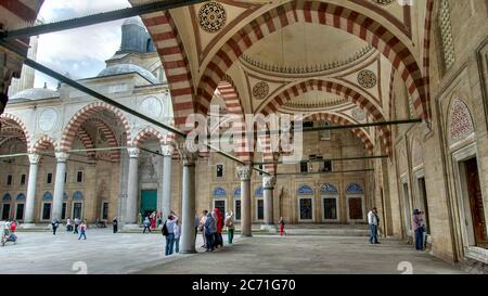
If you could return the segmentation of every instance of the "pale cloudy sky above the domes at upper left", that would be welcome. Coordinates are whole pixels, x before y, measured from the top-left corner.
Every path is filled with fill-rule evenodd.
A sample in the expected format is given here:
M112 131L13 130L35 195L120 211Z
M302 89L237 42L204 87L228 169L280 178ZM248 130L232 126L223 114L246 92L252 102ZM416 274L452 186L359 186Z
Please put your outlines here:
M127 0L46 0L39 12L44 23L130 7ZM124 20L46 34L39 37L37 62L73 79L97 76L120 47ZM36 72L35 87L55 89L57 80Z

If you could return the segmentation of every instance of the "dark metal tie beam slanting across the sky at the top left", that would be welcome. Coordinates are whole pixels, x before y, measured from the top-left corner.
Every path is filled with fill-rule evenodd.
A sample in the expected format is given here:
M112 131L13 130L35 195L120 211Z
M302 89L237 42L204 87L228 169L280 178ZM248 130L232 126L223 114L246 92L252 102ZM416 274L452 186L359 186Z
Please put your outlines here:
M10 31L0 31L0 38L18 39L24 37L37 36L53 31L74 29L85 26L91 26L100 23L117 21L121 18L128 18L141 14L147 14L158 11L165 11L169 9L176 9L187 5L193 5L196 3L205 2L206 0L166 0L159 2L152 2L132 8L125 8L115 11L102 12L82 17L76 17L72 20L55 22L51 24L42 24L31 26L27 28L14 29Z

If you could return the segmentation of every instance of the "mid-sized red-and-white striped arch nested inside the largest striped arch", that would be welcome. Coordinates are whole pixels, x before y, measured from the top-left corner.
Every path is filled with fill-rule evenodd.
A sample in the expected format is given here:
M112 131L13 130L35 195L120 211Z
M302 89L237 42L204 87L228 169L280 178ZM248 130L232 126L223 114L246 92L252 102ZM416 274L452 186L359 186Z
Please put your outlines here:
M371 120L385 121L385 116L382 114L380 108L376 105L374 105L370 100L368 100L364 95L346 86L319 79L310 79L285 89L280 94L274 96L265 106L261 113L265 115L275 113L281 105L291 101L293 98L303 95L309 91L324 91L329 93L335 93L346 100L352 101L352 103L358 105L360 108L367 110ZM382 126L378 128L378 131L382 145L385 146L385 150L387 152L391 151L391 132L389 127Z

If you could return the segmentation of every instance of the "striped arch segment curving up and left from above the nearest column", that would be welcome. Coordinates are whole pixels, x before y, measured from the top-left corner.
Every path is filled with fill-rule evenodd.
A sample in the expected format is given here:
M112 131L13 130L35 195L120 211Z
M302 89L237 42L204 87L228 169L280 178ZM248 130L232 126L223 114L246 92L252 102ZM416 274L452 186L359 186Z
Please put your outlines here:
M187 117L203 108L194 100L192 75L178 29L169 11L144 14L141 17L151 34L168 79L175 126L185 130Z

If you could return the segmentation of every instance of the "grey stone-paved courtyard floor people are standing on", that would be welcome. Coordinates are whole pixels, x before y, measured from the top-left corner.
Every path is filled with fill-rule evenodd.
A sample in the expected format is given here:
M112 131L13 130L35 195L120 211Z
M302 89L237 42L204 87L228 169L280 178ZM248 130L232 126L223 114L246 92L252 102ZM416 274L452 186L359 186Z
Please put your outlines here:
M17 234L16 245L0 246L0 273L77 273L77 261L86 262L88 273L398 274L403 270L398 269L402 261L411 263L413 273L463 273L403 242L383 240L380 245L371 245L363 236L237 236L233 245L215 253L197 247L198 254L165 257L160 232L113 234L110 230L90 230L87 241L64 231L55 236L49 232ZM196 245L201 244L198 235Z

